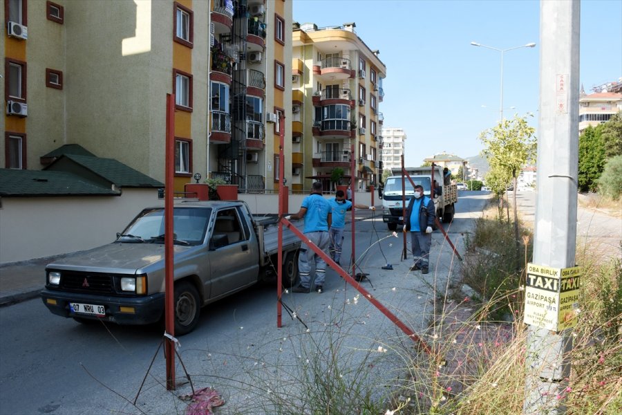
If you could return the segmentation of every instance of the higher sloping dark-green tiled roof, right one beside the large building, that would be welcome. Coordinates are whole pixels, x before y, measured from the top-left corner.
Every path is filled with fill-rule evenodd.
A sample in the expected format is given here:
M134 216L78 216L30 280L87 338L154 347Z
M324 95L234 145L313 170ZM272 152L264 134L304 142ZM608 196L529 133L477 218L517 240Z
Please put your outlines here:
M113 183L117 187L164 187L161 183L146 174L142 174L113 158L101 158L93 156L80 156L77 154L64 154L54 163L46 167L49 169L62 158L68 158L77 165L89 170L96 176Z

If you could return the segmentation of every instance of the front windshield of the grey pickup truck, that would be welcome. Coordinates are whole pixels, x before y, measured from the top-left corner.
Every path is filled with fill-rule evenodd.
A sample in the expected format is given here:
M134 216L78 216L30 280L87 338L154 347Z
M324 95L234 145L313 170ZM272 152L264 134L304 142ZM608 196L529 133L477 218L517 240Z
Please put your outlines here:
M198 245L205 239L211 208L175 208L173 234L175 243ZM146 209L125 228L117 242L164 243L164 209Z

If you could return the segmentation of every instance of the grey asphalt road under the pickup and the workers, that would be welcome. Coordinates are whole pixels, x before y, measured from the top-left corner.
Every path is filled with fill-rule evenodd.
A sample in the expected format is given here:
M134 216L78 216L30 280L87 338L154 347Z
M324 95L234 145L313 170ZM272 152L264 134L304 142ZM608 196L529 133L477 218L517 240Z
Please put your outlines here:
M488 194L459 196L449 235L462 253L464 232L480 216ZM431 273L411 273L410 252L401 261L401 232L390 235L381 218L357 222L357 257L366 252L358 264L369 273L369 281L361 286L421 333L435 291L442 295L448 280L457 277L459 261L442 234L435 232ZM346 232L343 258L350 257L349 242ZM386 263L394 269L381 270ZM377 394L386 393L386 385L405 365L400 350L412 350L413 342L332 270L325 289L323 294L284 294L283 302L300 321L284 310L281 329L276 327L273 286L257 285L203 308L196 331L180 338L179 353L195 389L216 387L227 402L220 413L267 414L274 412L267 406L271 401L287 402L289 393L296 394L301 379L312 374L314 362L329 367L339 362L344 371L373 367L366 382L377 386ZM160 329L78 324L52 315L41 299L0 308L0 326L0 414L184 411L178 395L189 393L190 387L178 363L178 390L166 391L165 360L161 350L156 353ZM129 401L137 395L154 355L133 406Z

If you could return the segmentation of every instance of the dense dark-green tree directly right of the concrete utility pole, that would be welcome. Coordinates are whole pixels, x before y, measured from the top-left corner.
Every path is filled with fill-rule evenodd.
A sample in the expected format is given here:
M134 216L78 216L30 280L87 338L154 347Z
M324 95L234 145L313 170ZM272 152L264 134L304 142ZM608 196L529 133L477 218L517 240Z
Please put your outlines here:
M605 142L603 124L587 127L579 136L578 188L581 192L596 192L597 184L605 169Z

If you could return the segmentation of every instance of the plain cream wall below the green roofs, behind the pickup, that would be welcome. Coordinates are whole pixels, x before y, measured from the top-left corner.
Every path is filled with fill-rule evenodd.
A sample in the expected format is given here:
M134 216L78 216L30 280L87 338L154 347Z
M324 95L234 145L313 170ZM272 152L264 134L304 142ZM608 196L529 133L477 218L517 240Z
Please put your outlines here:
M158 192L124 189L122 196L2 198L0 264L95 248L149 205Z

